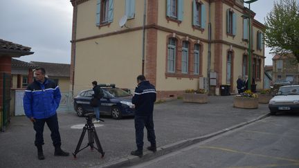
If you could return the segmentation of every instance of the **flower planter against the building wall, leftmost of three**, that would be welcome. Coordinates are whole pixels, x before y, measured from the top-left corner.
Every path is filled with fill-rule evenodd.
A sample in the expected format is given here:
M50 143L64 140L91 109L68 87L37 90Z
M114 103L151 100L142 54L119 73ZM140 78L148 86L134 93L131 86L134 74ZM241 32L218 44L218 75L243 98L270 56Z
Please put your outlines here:
M183 93L183 102L207 103L208 91L202 88L198 90L187 89L185 93Z

